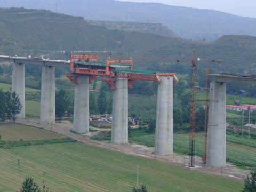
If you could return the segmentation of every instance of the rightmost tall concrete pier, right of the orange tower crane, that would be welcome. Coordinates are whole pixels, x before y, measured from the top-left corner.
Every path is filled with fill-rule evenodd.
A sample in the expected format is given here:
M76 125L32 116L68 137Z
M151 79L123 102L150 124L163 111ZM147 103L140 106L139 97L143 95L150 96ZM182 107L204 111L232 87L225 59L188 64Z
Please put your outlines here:
M211 82L206 166L226 166L226 83Z

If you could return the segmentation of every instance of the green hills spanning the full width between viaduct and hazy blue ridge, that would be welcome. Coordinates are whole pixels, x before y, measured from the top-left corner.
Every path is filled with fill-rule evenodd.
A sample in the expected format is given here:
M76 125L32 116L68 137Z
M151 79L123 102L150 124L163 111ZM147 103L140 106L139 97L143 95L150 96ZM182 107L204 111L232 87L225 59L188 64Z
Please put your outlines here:
M119 27L124 22L120 23ZM204 71L206 67L216 72L255 73L256 70L256 37L253 36L227 35L212 43L192 42L145 31L108 29L82 17L22 8L0 9L0 25L2 54L26 56L50 53L49 57L68 59L69 51L110 51L117 59L132 56L136 68L188 73L192 47L197 46L198 57L223 61L221 67L203 63L199 70ZM108 25L118 28L114 22ZM141 27L138 30L142 30ZM67 51L67 54L61 51ZM172 61L165 58L172 58ZM175 61L177 58L179 63Z

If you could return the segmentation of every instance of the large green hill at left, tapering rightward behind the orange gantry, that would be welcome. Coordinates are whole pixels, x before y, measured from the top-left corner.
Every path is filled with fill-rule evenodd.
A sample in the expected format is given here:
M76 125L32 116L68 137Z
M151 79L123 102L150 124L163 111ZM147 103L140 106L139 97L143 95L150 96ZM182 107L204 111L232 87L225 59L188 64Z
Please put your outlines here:
M82 17L45 10L0 9L0 23L0 52L5 54L71 50L134 52L182 42L149 33L110 30L92 25Z

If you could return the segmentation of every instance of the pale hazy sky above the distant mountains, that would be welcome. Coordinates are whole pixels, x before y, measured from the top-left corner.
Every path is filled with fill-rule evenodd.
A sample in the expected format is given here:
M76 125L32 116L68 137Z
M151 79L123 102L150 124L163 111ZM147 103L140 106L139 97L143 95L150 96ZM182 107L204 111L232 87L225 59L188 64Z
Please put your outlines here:
M121 0L127 1L127 0ZM167 5L213 9L256 18L256 0L128 0L130 2L156 2Z

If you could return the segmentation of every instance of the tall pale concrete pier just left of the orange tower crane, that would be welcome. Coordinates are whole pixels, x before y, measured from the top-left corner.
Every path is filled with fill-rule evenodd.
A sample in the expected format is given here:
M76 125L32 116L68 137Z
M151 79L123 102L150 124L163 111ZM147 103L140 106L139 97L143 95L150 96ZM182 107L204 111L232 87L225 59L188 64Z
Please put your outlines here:
M161 77L157 90L155 154L173 153L173 78Z

